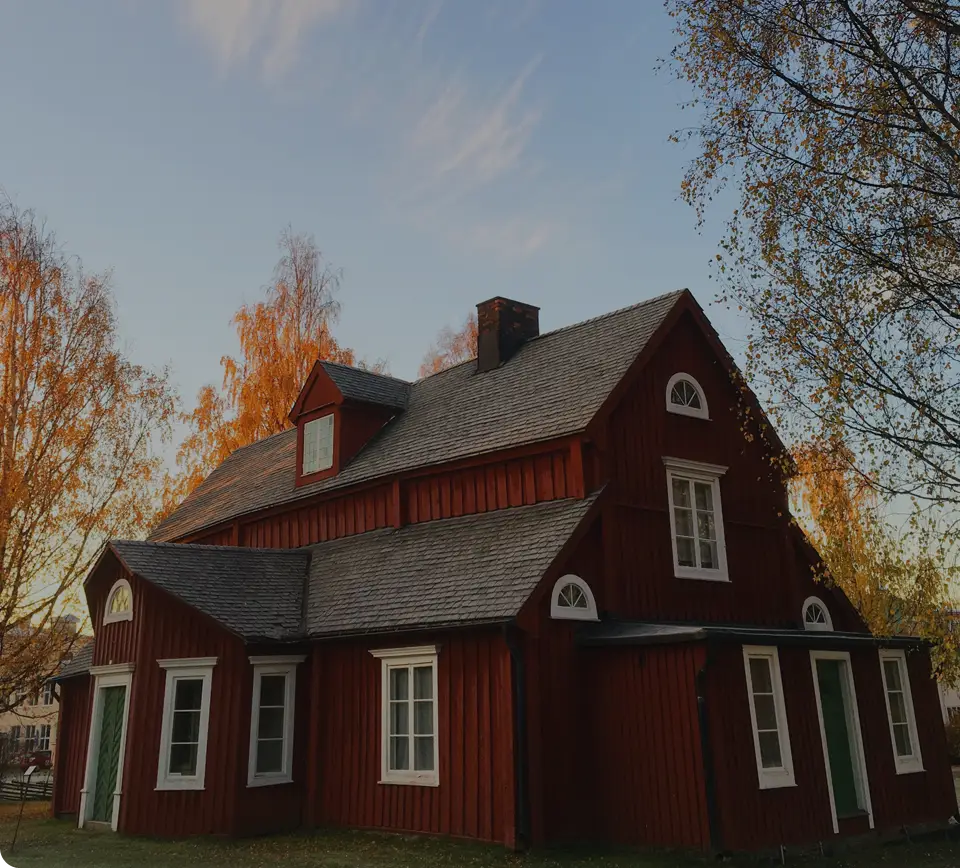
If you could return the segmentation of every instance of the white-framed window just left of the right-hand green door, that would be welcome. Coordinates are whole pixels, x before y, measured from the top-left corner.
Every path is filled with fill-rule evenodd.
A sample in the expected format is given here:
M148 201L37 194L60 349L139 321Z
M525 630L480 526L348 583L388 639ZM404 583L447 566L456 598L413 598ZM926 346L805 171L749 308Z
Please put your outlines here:
M796 786L777 649L744 645L743 665L760 789Z

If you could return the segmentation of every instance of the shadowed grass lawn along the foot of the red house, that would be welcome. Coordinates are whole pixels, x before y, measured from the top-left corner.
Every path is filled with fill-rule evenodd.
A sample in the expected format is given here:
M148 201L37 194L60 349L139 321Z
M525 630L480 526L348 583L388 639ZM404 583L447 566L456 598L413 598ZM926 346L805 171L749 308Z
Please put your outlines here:
M106 832L80 831L72 823L46 818L46 805L28 806L15 852L9 842L16 809L0 807L0 866L84 868L130 865L135 868L186 868L223 865L231 868L696 868L717 864L706 857L653 853L539 853L517 856L499 847L371 832L320 832L244 841L196 838L154 841ZM751 860L723 863L730 868ZM778 863L779 864L779 863ZM960 864L960 842L926 841L853 850L836 859L811 858L788 864L819 868L953 868Z

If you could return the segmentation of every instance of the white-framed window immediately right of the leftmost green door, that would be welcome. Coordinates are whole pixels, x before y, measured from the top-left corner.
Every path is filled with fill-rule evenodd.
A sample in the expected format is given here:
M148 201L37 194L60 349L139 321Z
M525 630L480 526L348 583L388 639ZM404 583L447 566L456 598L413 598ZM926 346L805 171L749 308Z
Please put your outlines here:
M216 657L158 660L167 673L157 763L158 790L202 790L207 766L210 687Z

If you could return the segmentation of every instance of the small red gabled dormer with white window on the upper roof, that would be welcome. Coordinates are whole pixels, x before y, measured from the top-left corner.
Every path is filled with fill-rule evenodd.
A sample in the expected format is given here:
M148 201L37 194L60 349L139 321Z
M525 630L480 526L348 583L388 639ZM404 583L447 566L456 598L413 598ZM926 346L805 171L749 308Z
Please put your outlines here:
M410 384L336 362L318 361L289 419L297 428L296 484L336 476L407 406Z

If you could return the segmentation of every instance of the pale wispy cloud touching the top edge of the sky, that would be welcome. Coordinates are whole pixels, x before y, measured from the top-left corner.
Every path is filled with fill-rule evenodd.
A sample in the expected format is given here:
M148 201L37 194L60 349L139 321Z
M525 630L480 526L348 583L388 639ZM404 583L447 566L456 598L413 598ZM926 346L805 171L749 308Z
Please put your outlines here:
M181 0L182 16L214 52L220 68L255 62L275 79L296 64L312 28L356 0Z

